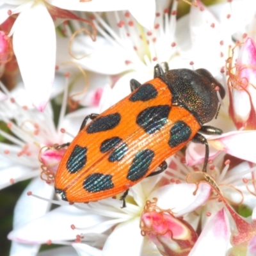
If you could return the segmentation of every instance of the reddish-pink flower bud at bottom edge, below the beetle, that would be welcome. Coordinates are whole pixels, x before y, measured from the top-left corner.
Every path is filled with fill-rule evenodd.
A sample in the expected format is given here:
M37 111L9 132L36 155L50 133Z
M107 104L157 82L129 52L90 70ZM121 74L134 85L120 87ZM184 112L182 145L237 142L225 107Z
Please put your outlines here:
M141 214L141 234L148 236L163 255L186 256L198 238L188 222L177 218L171 210L161 210L155 202L146 202Z

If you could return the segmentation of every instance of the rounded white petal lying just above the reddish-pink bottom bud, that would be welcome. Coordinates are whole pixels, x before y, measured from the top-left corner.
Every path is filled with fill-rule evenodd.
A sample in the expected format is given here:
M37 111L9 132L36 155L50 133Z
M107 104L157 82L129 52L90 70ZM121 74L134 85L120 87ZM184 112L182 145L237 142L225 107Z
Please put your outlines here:
M200 183L196 195L195 184L170 184L153 191L148 199L157 198L157 206L161 209L172 209L175 216L182 216L204 204L211 195L211 186Z

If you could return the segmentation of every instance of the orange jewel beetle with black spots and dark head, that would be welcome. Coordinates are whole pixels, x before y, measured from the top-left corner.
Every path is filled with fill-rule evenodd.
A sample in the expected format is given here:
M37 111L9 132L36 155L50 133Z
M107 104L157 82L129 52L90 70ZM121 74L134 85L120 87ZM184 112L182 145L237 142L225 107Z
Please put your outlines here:
M132 79L130 95L84 118L58 167L56 193L68 202L93 202L126 191L124 199L131 186L163 172L165 159L189 141L205 145L206 172L209 145L201 133L222 133L204 125L218 111L216 89L223 99L223 86L203 68L164 72L157 64L154 79Z

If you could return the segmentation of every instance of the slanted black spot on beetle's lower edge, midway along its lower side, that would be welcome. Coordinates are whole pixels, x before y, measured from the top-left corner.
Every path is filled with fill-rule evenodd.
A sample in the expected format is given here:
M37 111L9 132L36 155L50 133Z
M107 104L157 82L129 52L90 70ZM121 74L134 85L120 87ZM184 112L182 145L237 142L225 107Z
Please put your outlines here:
M145 149L138 152L132 160L127 179L136 181L145 176L154 156L154 151L150 149Z

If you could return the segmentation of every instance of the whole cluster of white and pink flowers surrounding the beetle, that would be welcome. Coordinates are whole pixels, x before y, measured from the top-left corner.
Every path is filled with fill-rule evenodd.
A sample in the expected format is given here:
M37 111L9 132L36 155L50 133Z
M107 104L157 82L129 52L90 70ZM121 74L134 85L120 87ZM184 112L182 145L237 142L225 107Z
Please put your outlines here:
M197 0L177 19L188 3L2 1L0 188L31 179L10 255L256 255L255 4ZM152 79L156 64L206 68L226 90L209 123L223 134L205 136L207 172L205 145L189 142L129 188L126 207L122 195L57 200L56 170L84 117L129 95L131 79Z

